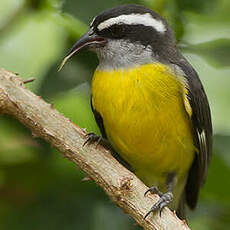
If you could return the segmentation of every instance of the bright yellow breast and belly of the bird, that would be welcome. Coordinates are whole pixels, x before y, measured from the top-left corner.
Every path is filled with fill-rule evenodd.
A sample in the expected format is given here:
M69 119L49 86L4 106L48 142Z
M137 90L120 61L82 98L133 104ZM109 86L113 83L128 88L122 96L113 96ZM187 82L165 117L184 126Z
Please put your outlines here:
M94 74L92 103L107 137L148 186L165 188L169 172L184 184L191 166L195 148L183 87L162 64Z

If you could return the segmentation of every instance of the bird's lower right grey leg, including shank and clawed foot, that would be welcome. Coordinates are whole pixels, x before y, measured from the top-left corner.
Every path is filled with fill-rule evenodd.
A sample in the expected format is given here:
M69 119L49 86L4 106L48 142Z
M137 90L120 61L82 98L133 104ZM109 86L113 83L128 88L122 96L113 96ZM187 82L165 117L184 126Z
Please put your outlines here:
M145 215L144 219L152 212L155 211L160 211L160 216L161 212L164 207L168 206L170 202L173 200L173 185L175 182L175 173L169 173L166 179L166 184L168 186L167 192L162 193L157 186L150 187L144 195L146 195L148 192L152 194L158 194L160 199L152 206L152 208L147 212Z

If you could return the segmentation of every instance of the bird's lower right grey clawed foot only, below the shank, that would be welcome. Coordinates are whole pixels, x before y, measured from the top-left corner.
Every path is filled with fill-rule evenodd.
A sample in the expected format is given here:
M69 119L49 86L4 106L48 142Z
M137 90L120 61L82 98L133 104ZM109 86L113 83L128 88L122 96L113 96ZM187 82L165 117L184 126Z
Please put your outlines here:
M167 192L167 193L162 193L157 186L153 186L149 188L144 195L146 195L148 192L152 194L158 194L160 196L160 199L152 206L152 208L147 212L145 215L144 219L147 218L147 216L156 211L160 211L160 216L161 212L164 207L168 206L168 204L173 200L173 194L172 192Z

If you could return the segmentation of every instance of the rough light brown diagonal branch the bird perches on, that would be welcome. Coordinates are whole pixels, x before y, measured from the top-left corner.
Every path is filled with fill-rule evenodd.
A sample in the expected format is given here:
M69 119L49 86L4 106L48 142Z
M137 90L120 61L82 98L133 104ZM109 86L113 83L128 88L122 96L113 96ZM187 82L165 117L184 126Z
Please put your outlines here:
M189 230L187 224L168 208L163 210L161 217L156 213L144 220L144 215L159 197L151 194L144 197L147 187L102 146L83 147L84 130L26 89L16 74L3 69L0 69L0 113L16 117L34 136L43 138L77 164L144 229Z

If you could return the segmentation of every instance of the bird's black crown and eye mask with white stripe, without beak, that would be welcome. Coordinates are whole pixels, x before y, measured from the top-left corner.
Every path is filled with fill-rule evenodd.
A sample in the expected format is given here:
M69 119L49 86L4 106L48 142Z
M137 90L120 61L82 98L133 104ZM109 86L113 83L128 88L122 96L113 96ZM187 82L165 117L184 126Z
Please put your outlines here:
M173 31L167 21L141 5L107 9L94 18L90 27L99 36L139 42L152 46L154 50L162 45L175 44Z

